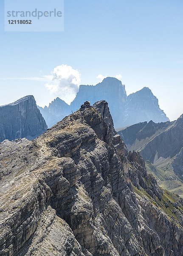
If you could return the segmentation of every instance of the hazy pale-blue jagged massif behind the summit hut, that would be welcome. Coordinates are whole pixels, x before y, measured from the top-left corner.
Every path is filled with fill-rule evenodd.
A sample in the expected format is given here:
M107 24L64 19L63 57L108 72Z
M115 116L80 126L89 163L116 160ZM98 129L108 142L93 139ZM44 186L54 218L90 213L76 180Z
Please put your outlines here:
M49 107L39 108L48 127L62 120L65 116L80 108L86 100L93 105L99 100L106 100L113 116L115 128L125 127L137 122L166 122L166 114L160 109L158 99L152 91L144 87L142 90L127 96L125 86L118 79L107 77L101 83L80 85L76 98L70 105L56 98Z

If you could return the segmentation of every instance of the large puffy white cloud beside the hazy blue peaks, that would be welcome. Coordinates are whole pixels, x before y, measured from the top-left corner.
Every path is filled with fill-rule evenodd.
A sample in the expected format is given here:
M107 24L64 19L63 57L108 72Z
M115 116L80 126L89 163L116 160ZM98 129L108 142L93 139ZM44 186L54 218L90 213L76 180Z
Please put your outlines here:
M81 73L79 70L62 64L53 69L51 72L51 81L46 83L45 87L55 96L70 104L79 91L80 83Z

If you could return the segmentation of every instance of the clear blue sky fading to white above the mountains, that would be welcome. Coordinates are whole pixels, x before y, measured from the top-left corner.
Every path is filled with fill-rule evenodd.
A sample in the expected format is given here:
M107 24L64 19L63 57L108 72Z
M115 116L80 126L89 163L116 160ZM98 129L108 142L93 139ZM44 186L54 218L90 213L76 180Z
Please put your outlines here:
M171 120L183 113L182 0L65 0L64 32L4 32L3 12L1 1L0 105L48 105L56 95L28 78L68 64L82 84L121 74L127 94L149 87Z

